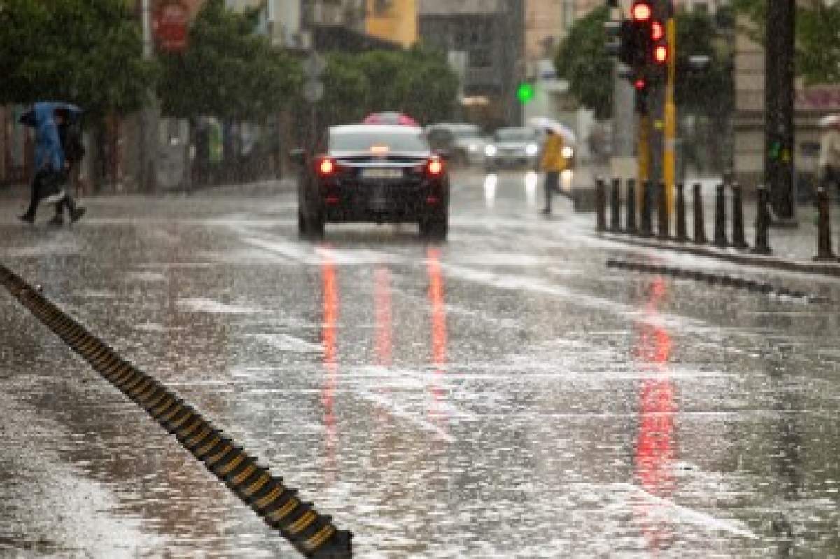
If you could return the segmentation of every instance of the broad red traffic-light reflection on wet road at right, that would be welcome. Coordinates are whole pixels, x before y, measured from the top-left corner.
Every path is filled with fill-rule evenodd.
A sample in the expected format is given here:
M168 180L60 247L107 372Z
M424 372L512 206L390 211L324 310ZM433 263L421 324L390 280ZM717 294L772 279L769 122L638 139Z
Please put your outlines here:
M668 331L657 324L656 316L658 304L666 294L664 280L657 277L650 288L645 319L638 323L636 347L641 368L648 372L639 393L636 476L645 492L659 498L669 498L674 493L676 446L675 387L668 367L672 344ZM661 509L662 505L651 503L638 507L648 547L653 551L666 549L673 536L666 511Z

